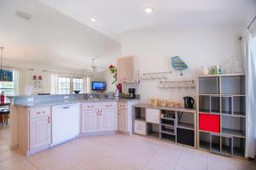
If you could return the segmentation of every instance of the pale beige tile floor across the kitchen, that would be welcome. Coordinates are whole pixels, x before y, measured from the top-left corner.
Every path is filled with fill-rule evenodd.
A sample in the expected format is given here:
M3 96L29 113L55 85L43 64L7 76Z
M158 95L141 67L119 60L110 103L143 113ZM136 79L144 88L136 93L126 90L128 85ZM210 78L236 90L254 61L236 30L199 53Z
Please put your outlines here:
M74 139L34 156L8 149L0 131L0 170L255 170L251 161L119 134Z

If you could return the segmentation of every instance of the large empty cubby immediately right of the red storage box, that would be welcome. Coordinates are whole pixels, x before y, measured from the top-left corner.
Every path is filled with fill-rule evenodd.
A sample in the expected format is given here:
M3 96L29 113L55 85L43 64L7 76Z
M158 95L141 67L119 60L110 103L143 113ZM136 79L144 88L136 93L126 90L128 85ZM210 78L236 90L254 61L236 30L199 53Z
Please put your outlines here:
M239 138L245 138L246 118L239 116L222 116L222 133Z

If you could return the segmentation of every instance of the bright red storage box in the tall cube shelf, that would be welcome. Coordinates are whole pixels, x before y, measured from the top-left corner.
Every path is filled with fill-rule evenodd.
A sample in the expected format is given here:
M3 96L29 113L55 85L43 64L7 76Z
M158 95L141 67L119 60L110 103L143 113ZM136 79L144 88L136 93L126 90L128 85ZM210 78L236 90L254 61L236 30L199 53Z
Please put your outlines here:
M219 115L199 113L199 129L212 133L220 132Z

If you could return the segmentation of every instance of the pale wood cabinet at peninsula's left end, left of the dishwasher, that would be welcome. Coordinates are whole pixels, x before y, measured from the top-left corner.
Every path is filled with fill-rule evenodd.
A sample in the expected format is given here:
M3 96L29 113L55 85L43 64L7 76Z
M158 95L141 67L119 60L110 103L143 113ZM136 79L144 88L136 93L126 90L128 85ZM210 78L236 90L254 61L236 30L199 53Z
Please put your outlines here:
M50 107L16 107L18 147L26 156L49 148L51 143Z

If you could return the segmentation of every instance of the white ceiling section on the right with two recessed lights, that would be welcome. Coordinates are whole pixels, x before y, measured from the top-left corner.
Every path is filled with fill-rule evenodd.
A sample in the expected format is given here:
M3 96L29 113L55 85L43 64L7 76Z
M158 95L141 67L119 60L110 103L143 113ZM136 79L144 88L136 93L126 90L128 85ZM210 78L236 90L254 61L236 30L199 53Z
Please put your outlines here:
M39 0L116 41L125 31L170 26L246 26L255 0ZM143 8L153 7L154 14ZM96 18L91 22L90 17Z

